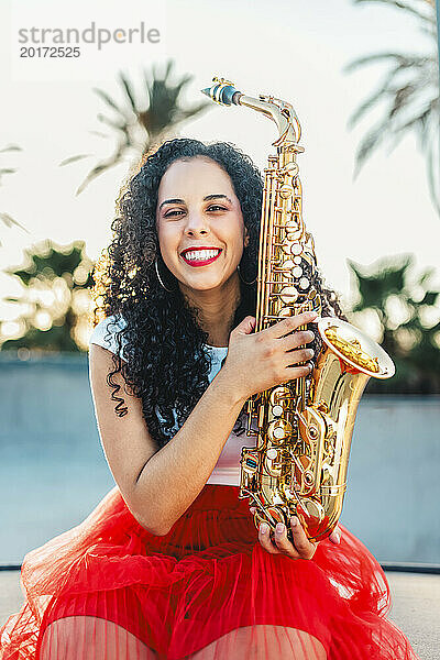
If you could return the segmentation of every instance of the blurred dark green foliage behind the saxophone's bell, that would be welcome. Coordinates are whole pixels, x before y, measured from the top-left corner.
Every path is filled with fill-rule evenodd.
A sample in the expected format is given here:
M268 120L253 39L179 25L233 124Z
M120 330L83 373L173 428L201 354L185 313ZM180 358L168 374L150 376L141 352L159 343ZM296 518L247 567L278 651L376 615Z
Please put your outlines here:
M413 255L385 257L367 271L353 262L349 266L358 289L354 319L365 311L375 316L380 343L396 364L393 378L372 378L366 391L439 394L440 292L430 285L433 268L417 275Z

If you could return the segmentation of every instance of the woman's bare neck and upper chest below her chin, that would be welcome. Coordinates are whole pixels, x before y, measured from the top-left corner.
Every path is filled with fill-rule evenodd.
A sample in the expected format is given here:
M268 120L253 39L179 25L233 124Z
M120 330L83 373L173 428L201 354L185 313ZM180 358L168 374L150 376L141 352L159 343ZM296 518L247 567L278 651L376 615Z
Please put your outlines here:
M208 332L207 343L227 346L235 310L240 305L240 280L235 271L221 289L183 292L188 305L198 310L201 329Z

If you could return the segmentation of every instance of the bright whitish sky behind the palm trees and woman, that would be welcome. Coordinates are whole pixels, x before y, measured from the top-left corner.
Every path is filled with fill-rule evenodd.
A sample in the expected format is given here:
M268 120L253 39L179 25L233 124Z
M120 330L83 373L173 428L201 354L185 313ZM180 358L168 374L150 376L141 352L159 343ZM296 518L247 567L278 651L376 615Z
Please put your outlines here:
M440 219L429 199L425 161L408 135L387 155L375 154L353 182L359 139L377 116L355 131L346 122L359 102L380 84L386 69L372 65L353 74L351 59L378 51L422 50L427 43L416 21L381 6L349 0L2 0L0 6L0 148L19 144L22 152L0 153L0 167L16 167L0 187L0 211L31 232L0 224L1 267L19 265L22 250L43 239L58 244L86 241L97 258L110 239L119 187L130 162L112 168L75 197L75 190L113 142L92 135L106 131L97 113L112 117L92 91L105 89L122 100L117 74L124 70L140 90L141 66L175 59L175 73L194 76L186 99L201 98L213 75L233 80L257 96L271 92L294 105L302 125L299 156L304 217L316 241L328 283L348 299L346 258L371 264L381 256L411 252L419 270L438 267ZM160 43L81 45L79 58L18 57L20 29L157 29ZM28 44L29 45L29 44ZM34 44L35 46L37 44ZM205 97L204 97L205 98ZM182 135L235 143L263 168L275 127L245 108L212 107L187 124ZM95 156L58 167L66 157ZM437 271L439 274L439 271ZM437 278L439 280L439 277ZM0 298L20 287L0 274ZM15 316L0 301L0 318Z

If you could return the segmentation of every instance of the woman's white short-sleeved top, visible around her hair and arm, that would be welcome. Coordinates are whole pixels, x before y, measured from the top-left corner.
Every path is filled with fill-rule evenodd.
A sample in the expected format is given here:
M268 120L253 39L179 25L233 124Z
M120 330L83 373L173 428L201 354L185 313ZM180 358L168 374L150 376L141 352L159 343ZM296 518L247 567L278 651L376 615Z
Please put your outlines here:
M110 330L108 329L108 324L110 321L114 321L114 316L110 316L107 319L100 321L92 330L89 344L96 343L105 349L108 349L112 353L118 353L117 340L114 333L118 328L122 328L124 321L119 320L117 327L111 324ZM109 332L108 338L106 339L106 334ZM127 340L122 339L123 345L121 351L121 358L124 359L124 345L127 344ZM210 344L204 344L204 349L209 352L211 355L211 370L208 374L208 380L211 381L219 373L221 369L221 362L223 358L228 354L228 346L211 346ZM163 419L162 415L156 409L157 417ZM176 411L173 410L174 418L176 420ZM243 425L248 424L248 418L244 418ZM255 425L252 425L255 428ZM179 429L176 424L173 428L173 432L177 432ZM232 431L220 453L219 460L217 461L215 469L212 470L207 483L208 484L222 484L222 485L231 485L239 486L240 485L240 457L242 447L254 447L255 438L254 436L246 436L243 432L241 436L235 436Z

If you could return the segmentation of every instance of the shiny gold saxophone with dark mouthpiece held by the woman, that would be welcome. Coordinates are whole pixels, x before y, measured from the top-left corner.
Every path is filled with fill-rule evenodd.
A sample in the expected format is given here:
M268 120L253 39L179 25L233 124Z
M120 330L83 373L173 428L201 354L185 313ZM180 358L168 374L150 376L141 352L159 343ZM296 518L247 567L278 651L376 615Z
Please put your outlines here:
M255 331L302 311L318 312L321 350L311 374L253 395L248 400L239 497L255 507L254 522L274 530L298 516L312 541L338 524L358 405L370 377L395 372L388 354L354 326L321 317L314 286L314 239L302 220L301 183L296 163L301 129L294 108L266 95L253 98L215 77L204 94L224 106L246 106L275 122L276 155L268 156L261 218ZM321 317L321 318L320 318ZM300 329L306 329L301 327ZM257 430L251 428L256 419Z

